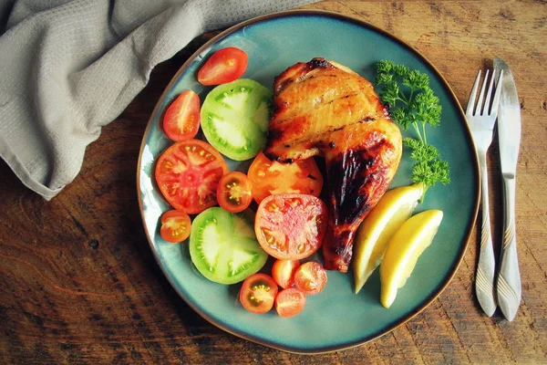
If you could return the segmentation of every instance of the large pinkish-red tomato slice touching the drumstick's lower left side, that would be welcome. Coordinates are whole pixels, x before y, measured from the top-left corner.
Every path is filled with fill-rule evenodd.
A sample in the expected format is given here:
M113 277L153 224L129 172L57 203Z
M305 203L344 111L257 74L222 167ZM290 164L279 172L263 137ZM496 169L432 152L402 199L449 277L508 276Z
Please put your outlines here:
M313 195L276 194L258 206L254 232L275 258L298 260L317 251L327 227L325 203Z

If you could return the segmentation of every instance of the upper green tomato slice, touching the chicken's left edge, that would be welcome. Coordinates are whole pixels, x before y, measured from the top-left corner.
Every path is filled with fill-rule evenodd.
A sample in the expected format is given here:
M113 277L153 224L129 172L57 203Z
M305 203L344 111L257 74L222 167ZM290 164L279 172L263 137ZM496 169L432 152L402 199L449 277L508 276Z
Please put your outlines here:
M205 138L224 156L252 159L266 144L272 91L260 83L239 78L212 89L201 106Z

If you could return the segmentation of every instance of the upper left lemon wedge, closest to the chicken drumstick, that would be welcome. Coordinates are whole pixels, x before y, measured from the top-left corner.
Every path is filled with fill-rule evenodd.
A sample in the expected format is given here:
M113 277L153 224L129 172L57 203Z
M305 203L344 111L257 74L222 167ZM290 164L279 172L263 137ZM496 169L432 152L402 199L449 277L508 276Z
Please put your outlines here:
M414 212L423 190L421 183L389 190L359 226L353 257L356 293L382 262L389 238Z

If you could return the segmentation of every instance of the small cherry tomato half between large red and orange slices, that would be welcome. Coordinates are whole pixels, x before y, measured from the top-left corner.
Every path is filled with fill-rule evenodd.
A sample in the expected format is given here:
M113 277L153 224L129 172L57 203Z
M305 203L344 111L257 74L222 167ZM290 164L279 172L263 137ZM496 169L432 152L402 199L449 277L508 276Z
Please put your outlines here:
M243 172L228 172L217 188L219 204L231 213L240 213L253 202L251 181Z

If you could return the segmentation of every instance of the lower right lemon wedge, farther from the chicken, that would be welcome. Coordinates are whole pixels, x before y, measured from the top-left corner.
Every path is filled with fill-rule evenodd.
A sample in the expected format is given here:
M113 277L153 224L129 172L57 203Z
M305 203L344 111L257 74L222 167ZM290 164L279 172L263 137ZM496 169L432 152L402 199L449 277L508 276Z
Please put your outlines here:
M382 306L391 307L397 297L397 289L405 286L419 255L437 234L442 216L438 210L418 213L402 224L389 240L380 266Z

